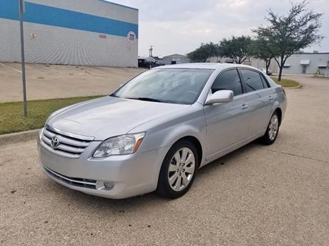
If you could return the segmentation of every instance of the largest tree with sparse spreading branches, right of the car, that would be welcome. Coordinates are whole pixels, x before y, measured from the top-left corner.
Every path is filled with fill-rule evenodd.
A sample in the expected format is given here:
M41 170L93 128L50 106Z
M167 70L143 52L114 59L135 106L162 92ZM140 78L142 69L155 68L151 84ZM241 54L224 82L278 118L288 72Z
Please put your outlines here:
M287 58L324 38L317 34L321 27L322 13L308 10L306 5L305 0L301 3L291 3L287 16L280 16L269 10L269 16L265 19L270 25L253 30L259 38L269 42L270 52L279 66L278 81L281 80Z

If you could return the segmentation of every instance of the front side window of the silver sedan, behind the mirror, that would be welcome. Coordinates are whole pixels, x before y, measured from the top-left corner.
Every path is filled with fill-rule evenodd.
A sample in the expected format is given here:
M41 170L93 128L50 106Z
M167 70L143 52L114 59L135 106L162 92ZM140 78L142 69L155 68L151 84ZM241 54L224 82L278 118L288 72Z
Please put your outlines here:
M217 76L211 86L212 93L217 90L233 90L234 96L242 94L242 84L238 71L232 69Z

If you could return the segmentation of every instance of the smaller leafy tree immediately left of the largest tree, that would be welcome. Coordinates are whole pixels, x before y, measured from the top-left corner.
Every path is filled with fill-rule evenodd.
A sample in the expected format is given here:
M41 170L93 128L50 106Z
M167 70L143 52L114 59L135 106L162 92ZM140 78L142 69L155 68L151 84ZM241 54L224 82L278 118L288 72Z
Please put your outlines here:
M269 47L269 41L265 40L265 38L257 37L256 40L252 41L249 51L250 56L261 59L265 62L266 73L268 73L269 65L271 64L271 60L274 58Z

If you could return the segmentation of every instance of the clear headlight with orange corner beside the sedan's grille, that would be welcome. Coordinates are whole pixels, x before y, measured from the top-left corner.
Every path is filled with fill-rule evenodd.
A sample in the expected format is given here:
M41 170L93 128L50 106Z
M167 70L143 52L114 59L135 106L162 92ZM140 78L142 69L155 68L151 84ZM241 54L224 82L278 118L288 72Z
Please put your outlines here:
M96 149L93 157L106 157L114 155L126 155L135 153L141 145L145 132L137 134L125 134L108 138Z

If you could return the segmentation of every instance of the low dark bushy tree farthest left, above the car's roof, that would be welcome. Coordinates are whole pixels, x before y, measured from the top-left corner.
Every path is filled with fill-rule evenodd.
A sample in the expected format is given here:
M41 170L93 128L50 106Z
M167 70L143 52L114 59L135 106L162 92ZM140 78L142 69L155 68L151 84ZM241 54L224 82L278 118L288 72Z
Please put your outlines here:
M195 49L195 51L192 51L191 53L188 53L187 56L193 62L206 62L208 58L218 56L218 54L218 45L210 42L207 44L202 43L199 48Z

